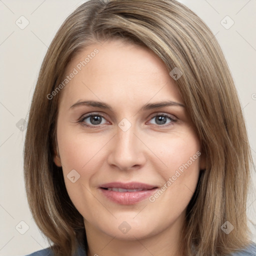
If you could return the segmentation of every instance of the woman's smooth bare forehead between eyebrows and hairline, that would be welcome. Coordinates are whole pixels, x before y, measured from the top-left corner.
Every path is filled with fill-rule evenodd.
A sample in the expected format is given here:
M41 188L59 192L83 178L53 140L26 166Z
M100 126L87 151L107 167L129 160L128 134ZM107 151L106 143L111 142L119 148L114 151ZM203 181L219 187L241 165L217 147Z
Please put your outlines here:
M122 40L94 43L71 59L62 100L79 99L119 104L143 104L151 98L182 102L163 61L148 48Z

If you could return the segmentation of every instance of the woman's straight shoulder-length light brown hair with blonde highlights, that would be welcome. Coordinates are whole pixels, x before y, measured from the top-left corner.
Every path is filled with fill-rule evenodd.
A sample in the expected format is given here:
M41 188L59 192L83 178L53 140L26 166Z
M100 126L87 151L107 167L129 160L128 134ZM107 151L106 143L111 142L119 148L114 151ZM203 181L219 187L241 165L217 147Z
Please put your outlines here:
M175 0L89 0L63 22L43 59L24 144L24 179L30 210L52 242L54 255L86 244L82 215L71 202L56 153L56 119L66 67L84 47L122 39L153 51L185 102L205 156L182 227L183 255L226 255L249 244L246 217L252 158L242 109L221 48L207 25ZM100 57L99 54L96 57ZM221 225L234 229L227 235ZM87 246L87 245L86 245Z

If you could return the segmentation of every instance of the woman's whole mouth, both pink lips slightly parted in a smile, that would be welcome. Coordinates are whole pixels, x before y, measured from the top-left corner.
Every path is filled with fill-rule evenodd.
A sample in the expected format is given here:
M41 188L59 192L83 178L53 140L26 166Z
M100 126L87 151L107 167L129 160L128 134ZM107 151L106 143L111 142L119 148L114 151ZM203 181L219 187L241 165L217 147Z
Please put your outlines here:
M99 186L104 197L125 205L135 204L148 198L157 188L157 186L140 182L111 182Z

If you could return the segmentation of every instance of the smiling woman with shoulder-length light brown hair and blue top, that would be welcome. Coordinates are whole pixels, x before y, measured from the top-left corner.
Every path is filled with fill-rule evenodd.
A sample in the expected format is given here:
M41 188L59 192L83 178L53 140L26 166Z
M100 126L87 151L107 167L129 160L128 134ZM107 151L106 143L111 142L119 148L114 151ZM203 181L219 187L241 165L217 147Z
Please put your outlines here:
M175 0L90 0L44 58L24 148L31 255L255 255L226 61Z

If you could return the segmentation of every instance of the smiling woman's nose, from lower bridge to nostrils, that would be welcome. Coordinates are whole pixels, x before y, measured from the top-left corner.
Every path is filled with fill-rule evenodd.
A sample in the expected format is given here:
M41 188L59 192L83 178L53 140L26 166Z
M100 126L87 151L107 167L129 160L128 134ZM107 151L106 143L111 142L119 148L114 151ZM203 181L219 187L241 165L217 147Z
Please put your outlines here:
M117 127L107 158L108 164L120 170L141 168L146 160L145 148L143 140L133 126L126 131Z

